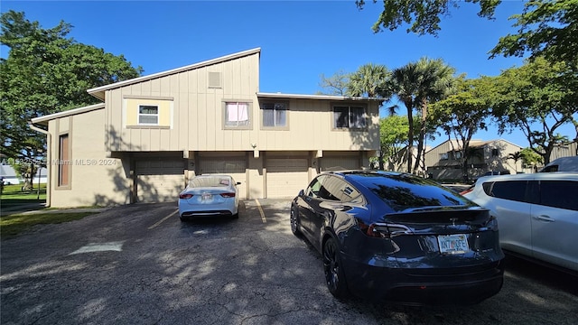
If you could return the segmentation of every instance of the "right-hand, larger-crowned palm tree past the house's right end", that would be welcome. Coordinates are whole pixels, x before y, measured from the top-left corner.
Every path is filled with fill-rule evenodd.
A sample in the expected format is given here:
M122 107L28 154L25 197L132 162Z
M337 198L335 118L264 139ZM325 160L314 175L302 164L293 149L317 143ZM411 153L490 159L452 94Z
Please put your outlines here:
M390 89L404 103L409 122L407 172L416 172L420 165L424 152L428 104L443 98L448 93L452 88L454 72L455 69L446 65L442 59L431 60L427 58L407 63L405 66L392 71L392 78L386 89ZM415 165L412 163L415 134L414 108L419 109L421 117Z

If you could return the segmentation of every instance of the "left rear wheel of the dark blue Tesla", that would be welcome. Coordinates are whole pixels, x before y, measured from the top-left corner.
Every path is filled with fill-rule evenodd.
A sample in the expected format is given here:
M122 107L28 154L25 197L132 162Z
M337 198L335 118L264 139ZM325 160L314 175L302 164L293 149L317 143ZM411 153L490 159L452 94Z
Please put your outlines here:
M339 299L346 298L349 295L343 266L337 242L329 238L323 244L323 271L325 272L325 282L327 288L333 296Z

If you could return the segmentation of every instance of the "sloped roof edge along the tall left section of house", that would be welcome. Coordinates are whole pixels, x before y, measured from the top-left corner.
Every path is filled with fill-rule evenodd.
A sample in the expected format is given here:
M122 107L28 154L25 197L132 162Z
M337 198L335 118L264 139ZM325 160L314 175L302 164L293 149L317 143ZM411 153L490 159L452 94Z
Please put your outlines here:
M150 79L157 79L157 78L169 76L169 75L172 75L175 73L180 73L180 72L184 72L184 71L188 71L188 70L199 69L202 67L210 66L210 65L217 64L217 63L224 62L224 61L228 61L228 60L235 60L238 58L242 58L242 57L252 55L255 53L260 53L260 52L261 52L261 48L255 48L255 49L247 50L247 51L240 51L240 52L225 55L225 56L222 56L222 57L219 57L216 59L205 60L205 61L202 61L199 63L194 63L194 64L191 64L188 66L184 66L182 68L177 68L177 69L173 69L173 70L166 70L166 71L154 73L154 74L151 74L148 76L143 76L143 77L138 77L135 79L128 79L128 80L124 80L124 81L120 81L120 82L115 82L113 84L106 85L106 86L100 86L97 88L90 88L89 90L87 90L87 92L90 95L92 95L92 96L94 96L100 100L105 100L105 91L110 90L110 89L125 87L128 85L133 85L135 83L147 81Z

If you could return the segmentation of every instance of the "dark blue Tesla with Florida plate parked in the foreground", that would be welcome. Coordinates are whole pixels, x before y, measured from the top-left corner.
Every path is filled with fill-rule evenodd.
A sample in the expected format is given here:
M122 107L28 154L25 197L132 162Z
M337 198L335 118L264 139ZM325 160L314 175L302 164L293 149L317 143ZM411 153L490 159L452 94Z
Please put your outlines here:
M399 172L324 172L294 198L291 229L321 254L329 291L408 304L499 292L498 224L442 185Z

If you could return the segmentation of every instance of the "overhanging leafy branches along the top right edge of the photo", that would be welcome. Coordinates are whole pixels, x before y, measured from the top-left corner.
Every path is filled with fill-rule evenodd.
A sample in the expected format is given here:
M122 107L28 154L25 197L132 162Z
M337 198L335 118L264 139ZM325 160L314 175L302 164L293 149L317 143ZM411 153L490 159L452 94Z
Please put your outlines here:
M377 3L373 0L373 3ZM480 5L478 15L493 19L500 0L465 0L464 3ZM383 0L383 11L373 24L373 32L396 30L409 24L407 32L418 35L433 34L441 30L442 17L448 16L452 8L458 8L456 0ZM365 0L356 0L359 9ZM526 52L532 59L545 56L548 60L564 60L576 64L578 61L578 0L528 0L516 20L517 34L508 34L499 39L491 56L523 56Z

